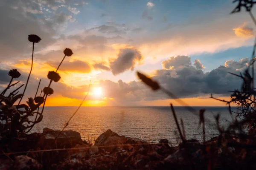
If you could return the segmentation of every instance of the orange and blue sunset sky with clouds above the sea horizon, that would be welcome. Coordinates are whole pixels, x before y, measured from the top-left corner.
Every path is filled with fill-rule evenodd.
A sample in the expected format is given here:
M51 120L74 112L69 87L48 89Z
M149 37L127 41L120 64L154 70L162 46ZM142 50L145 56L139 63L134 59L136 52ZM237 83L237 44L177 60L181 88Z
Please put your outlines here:
M241 88L238 73L247 67L255 25L246 11L230 14L233 0L1 0L0 90L17 68L26 83L32 43L32 76L23 102L49 84L64 48L73 50L53 82L47 106L168 105L171 100L151 91L137 78L141 71L189 105L225 105ZM252 11L253 14L255 11ZM16 80L15 80L16 81ZM22 90L20 90L22 93Z

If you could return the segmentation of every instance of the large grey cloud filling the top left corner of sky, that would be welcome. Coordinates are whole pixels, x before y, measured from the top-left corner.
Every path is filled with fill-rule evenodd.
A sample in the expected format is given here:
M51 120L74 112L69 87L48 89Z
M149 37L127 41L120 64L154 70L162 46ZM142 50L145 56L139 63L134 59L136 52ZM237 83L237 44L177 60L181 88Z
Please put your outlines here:
M0 57L5 61L10 57L26 56L31 51L28 34L42 38L35 52L41 51L58 41L56 38L69 23L75 21L75 4L83 5L83 0L26 0L3 1L0 5Z

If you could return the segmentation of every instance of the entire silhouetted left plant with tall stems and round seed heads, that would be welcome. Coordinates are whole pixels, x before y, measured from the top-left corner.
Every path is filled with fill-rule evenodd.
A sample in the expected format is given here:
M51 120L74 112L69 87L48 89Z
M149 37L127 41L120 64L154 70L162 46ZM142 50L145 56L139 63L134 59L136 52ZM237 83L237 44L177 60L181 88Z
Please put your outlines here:
M41 79L40 79L34 99L32 97L29 97L28 101L26 102L27 105L20 104L20 102L24 96L24 93L26 91L26 87L29 82L29 77L32 72L34 45L35 45L35 43L40 42L41 38L38 37L37 35L31 34L31 35L29 35L28 40L33 43L32 63L31 63L31 69L30 69L29 76L27 78L23 93L18 94L18 92L19 92L18 90L21 87L23 87L24 84L20 85L20 87L18 87L14 91L10 92L8 96L5 96L6 91L9 88L11 88L12 86L15 86L16 84L19 83L19 82L16 82L16 83L12 84L13 79L19 78L21 75L20 72L17 71L17 69L13 69L13 70L9 71L9 76L12 77L9 82L9 85L7 85L6 89L4 89L3 92L0 94L0 120L1 120L1 122L0 122L0 137L1 138L13 137L13 136L17 136L17 135L20 135L23 133L28 133L34 127L34 125L36 123L41 122L41 120L43 119L43 111L44 111L44 106L45 106L47 96L52 95L54 93L53 89L50 88L50 85L51 85L52 81L58 82L61 79L61 77L57 73L57 71L58 71L59 67L61 66L61 63L64 61L65 57L66 56L70 57L73 55L73 51L70 48L65 48L63 51L64 58L61 60L61 63L58 65L58 68L56 69L56 71L49 71L49 73L47 75L47 78L50 79L50 82L49 82L48 87L45 87L41 90L41 94L44 93L44 96L41 96L41 94L40 94L40 96L37 96L38 89L39 89L40 82L41 82ZM18 105L15 105L15 102L18 99L20 100L18 102ZM41 104L44 104L44 105L43 105L42 111L40 113L39 106ZM29 117L34 116L34 114L36 114L35 120L34 121L29 120Z

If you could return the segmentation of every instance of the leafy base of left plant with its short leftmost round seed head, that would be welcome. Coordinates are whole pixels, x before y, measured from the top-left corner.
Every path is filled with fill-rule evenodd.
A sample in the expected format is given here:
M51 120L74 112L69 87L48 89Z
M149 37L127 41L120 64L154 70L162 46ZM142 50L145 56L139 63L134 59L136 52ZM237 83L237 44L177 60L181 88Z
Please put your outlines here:
M14 69L9 71L9 76L11 76L12 79L18 78L20 77L20 73L19 71ZM15 105L15 102L23 96L23 94L17 94L17 90L23 87L23 85L20 85L19 88L10 92L8 96L4 96L7 89L18 83L17 82L10 85L12 79L7 88L0 94L1 138L12 137L22 134L25 132L26 128L29 127L27 124L37 123L36 121L29 121L29 116L33 116L35 113L34 111L39 107L39 105L41 105L40 102L35 104L32 98L29 98L27 102L28 105ZM40 116L39 118L40 119L38 119L37 121L40 121L42 119L42 116Z

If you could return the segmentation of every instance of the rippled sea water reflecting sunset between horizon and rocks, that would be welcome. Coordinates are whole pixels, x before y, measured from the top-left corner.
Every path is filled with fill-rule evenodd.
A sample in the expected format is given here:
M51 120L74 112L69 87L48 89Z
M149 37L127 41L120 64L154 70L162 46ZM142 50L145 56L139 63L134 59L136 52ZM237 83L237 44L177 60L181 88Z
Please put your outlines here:
M226 107L205 108L206 139L218 135L214 116L220 113L220 125L227 127L231 116ZM44 127L61 130L77 107L46 107L42 122L35 125L31 132L42 132ZM177 118L183 119L186 138L202 141L202 126L198 128L198 116L183 107L175 107ZM234 115L233 115L234 117ZM172 144L180 142L177 127L169 107L81 107L66 130L75 130L83 140L96 139L101 133L111 129L119 135L136 137L148 142L168 139Z

